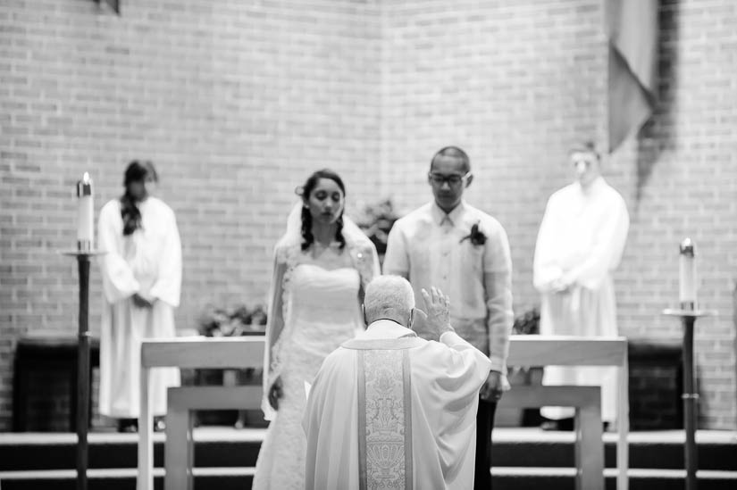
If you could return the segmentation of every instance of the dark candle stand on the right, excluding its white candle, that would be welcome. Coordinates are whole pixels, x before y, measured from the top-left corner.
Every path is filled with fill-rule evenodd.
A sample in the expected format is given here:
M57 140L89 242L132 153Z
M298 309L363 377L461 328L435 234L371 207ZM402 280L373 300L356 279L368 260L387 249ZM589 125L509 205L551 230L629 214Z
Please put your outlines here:
M686 467L686 490L696 490L696 470L699 468L696 448L696 403L699 394L694 387L693 376L693 328L696 319L716 316L716 311L700 310L696 302L681 302L680 308L666 308L666 316L679 317L683 324L683 429L686 442L683 457Z

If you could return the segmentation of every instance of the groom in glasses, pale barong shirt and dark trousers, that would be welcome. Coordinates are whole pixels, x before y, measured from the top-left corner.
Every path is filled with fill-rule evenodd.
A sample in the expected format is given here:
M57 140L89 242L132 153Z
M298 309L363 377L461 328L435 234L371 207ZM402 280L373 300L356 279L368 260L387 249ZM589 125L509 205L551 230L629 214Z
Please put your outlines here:
M491 487L491 429L507 382L512 330L512 260L498 220L465 203L473 181L468 155L456 146L432 157L427 176L434 199L398 220L389 232L384 274L408 278L421 290L440 287L451 299L450 323L458 335L489 355L491 372L481 390L474 488Z

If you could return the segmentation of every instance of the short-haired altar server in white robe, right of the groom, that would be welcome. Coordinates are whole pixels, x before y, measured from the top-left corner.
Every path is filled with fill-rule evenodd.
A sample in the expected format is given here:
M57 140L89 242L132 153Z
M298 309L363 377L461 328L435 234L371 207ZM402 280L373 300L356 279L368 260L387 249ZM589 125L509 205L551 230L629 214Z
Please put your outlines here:
M630 217L622 195L601 176L594 145L570 152L576 181L550 196L535 247L533 281L540 291L540 334L616 336L612 273L622 258ZM616 419L616 368L548 367L545 385L600 385L602 419ZM547 419L573 408L544 407Z

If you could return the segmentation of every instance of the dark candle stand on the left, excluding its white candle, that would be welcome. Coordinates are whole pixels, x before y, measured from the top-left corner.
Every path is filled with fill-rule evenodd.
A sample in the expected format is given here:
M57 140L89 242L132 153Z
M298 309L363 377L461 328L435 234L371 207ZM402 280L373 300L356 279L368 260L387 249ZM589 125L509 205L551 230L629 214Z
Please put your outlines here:
M77 347L77 490L87 490L88 429L89 429L89 262L102 255L101 250L60 251L77 257L80 276L80 314Z

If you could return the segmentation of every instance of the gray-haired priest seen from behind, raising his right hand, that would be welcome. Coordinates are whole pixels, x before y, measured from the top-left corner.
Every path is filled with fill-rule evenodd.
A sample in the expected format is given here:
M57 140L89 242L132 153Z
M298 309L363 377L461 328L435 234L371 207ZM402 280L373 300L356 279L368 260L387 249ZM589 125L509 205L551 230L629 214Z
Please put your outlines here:
M366 288L368 328L322 363L303 425L306 488L473 488L476 411L491 361L457 336L448 296L405 278Z

